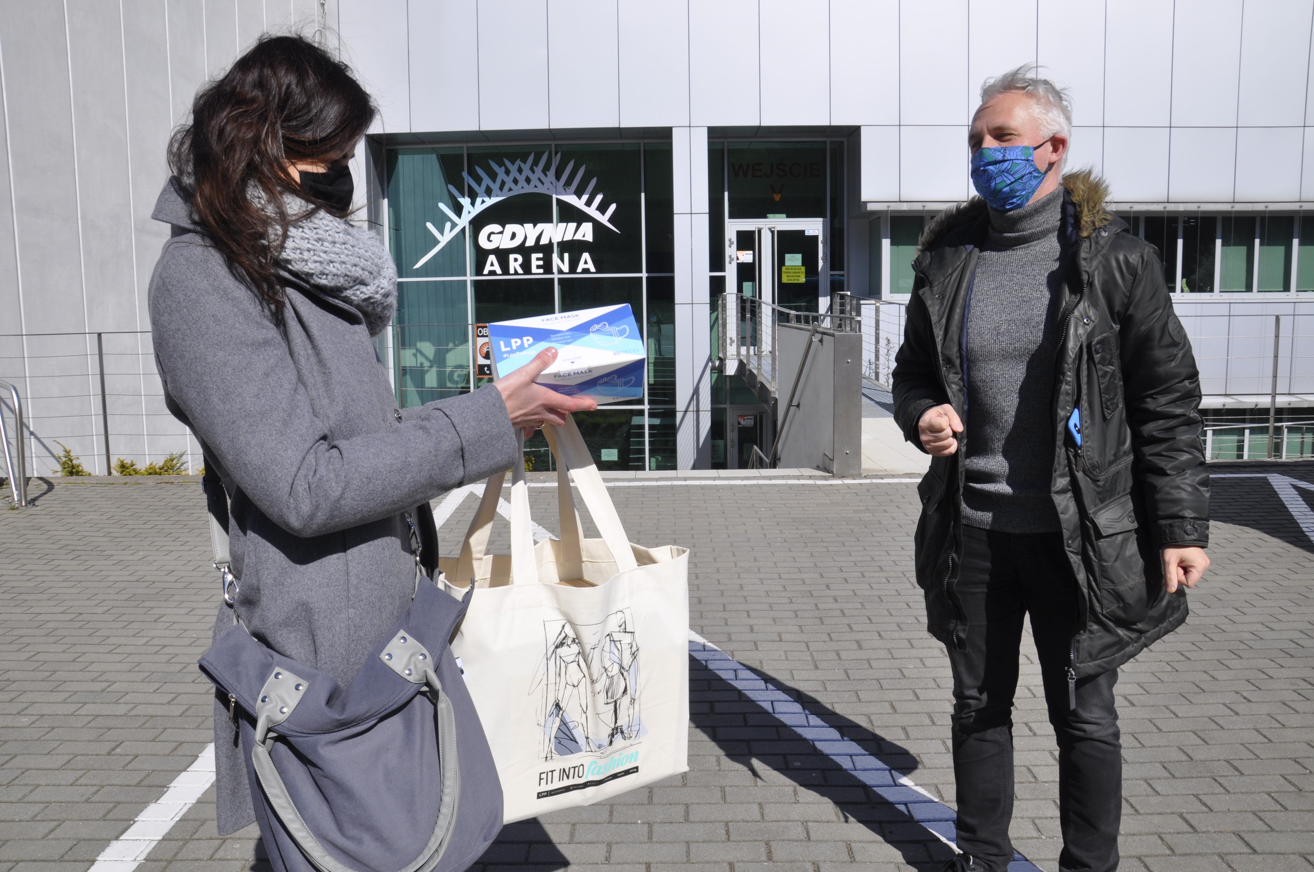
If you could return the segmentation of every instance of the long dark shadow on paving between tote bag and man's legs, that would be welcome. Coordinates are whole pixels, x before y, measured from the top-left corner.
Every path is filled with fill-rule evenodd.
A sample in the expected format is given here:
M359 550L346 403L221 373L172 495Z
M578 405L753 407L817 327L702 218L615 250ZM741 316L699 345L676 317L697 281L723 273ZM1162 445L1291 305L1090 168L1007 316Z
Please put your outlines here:
M917 768L917 758L903 746L837 714L761 670L752 671L896 774L909 775ZM949 846L917 823L903 806L874 792L794 728L765 712L692 657L689 661L689 687L690 720L725 756L742 763L754 775L758 775L757 766L769 766L799 787L830 800L848 819L879 835L918 872L938 872L954 856Z

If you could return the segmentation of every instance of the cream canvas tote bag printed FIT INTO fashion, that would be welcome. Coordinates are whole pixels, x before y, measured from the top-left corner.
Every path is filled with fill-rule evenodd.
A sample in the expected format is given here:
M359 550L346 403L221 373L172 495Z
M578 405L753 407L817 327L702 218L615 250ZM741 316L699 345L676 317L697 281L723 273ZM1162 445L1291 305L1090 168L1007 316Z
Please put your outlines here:
M561 538L533 544L512 470L511 554L486 553L505 473L487 481L444 584L480 590L452 640L502 781L505 822L589 805L689 770L689 552L629 544L569 418L544 425ZM568 470L602 538L581 534Z

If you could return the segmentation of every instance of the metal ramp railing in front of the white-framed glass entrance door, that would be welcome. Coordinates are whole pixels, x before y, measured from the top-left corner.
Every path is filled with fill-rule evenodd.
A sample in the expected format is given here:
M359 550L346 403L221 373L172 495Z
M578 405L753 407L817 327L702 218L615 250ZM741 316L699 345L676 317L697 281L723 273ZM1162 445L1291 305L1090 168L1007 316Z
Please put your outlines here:
M765 386L773 395L778 395L782 389L777 343L781 324L816 327L837 334L862 331L861 303L842 292L830 298L830 311L827 313L798 311L756 297L725 293L717 303L717 353L724 361L725 374L733 376L742 366L750 381ZM792 373L784 373L783 377L788 380ZM783 387L788 386L788 381L784 381Z

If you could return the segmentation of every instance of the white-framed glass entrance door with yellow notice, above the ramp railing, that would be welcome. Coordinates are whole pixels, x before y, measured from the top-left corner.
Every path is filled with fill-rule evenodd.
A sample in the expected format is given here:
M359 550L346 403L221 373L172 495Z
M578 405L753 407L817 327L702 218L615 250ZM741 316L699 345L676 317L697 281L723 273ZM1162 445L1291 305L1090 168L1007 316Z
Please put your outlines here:
M725 273L728 290L796 311L828 311L825 222L812 219L731 221Z

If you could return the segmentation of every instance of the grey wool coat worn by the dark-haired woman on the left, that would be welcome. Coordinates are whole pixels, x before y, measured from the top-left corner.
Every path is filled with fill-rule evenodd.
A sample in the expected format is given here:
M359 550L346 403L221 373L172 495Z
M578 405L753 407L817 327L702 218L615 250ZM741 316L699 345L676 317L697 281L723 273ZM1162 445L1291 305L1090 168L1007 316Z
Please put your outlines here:
M152 217L173 232L150 284L156 366L230 498L237 612L260 642L346 686L410 604L405 512L518 460L502 395L397 410L355 307L289 286L280 326L173 183ZM231 625L221 604L215 637ZM223 835L255 818L218 700L214 749Z

